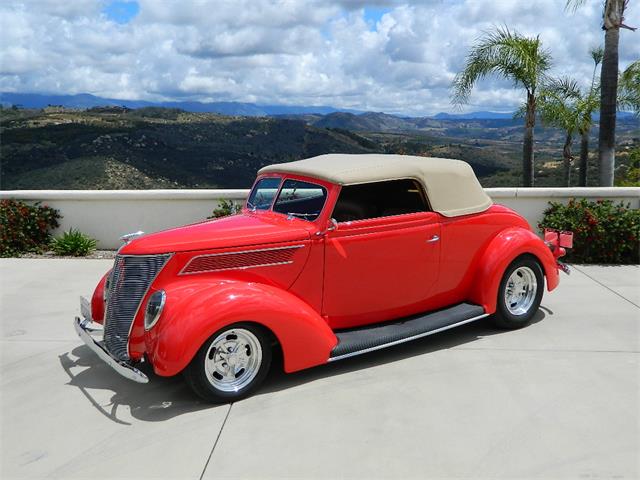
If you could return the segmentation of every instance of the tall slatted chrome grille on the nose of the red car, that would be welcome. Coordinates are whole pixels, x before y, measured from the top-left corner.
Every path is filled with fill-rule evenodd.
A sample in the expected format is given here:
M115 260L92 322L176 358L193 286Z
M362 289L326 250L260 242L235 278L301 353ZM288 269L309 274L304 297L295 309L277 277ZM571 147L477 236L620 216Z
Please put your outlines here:
M116 255L111 272L104 344L118 360L128 360L129 330L140 302L171 255Z

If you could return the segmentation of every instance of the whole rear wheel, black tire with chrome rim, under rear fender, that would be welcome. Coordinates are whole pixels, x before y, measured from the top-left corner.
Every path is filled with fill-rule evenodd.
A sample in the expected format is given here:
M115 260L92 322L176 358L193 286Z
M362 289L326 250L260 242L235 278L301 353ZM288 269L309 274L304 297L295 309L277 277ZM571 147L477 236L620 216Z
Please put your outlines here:
M504 272L498 288L498 304L492 316L500 328L522 328L531 323L544 292L542 267L533 257L520 257Z

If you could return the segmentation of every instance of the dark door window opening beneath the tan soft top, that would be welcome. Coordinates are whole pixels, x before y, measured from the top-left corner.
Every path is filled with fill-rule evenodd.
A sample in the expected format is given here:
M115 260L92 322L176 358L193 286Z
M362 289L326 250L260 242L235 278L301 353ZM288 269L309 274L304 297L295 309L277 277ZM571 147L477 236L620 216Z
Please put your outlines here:
M428 210L418 181L390 180L342 187L332 217L350 222Z

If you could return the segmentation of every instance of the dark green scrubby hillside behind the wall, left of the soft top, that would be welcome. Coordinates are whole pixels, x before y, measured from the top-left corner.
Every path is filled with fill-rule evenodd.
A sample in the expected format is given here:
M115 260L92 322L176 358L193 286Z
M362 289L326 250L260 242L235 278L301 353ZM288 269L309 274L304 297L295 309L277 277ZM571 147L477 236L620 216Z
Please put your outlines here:
M0 186L245 188L270 163L379 151L362 137L297 120L104 110L3 119Z

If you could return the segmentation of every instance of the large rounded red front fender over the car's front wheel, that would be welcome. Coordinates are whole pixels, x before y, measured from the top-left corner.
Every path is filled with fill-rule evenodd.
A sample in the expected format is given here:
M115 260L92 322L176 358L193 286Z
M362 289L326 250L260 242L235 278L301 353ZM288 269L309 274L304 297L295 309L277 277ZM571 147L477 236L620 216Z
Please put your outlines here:
M337 343L315 310L277 287L187 279L164 288L167 300L162 316L145 333L147 356L158 375L182 371L213 333L237 322L257 323L273 332L287 372L326 363Z

